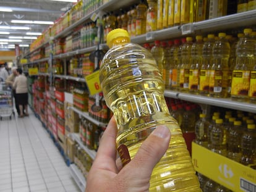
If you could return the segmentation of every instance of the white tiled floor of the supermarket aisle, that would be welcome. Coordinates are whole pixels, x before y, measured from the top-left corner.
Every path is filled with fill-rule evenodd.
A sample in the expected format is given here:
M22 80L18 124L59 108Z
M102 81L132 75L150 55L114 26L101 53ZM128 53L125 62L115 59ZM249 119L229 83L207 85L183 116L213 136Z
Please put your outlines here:
M80 191L49 134L31 111L29 117L0 122L0 191Z

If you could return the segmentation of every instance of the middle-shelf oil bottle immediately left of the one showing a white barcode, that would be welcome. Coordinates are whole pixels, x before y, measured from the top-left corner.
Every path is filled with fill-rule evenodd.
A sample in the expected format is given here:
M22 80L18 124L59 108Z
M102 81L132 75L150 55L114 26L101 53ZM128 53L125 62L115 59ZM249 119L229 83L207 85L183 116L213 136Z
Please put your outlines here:
M207 41L203 43L202 48L202 65L200 69L199 77L199 93L203 96L208 96L209 94L209 80L210 80L210 69L212 64L213 56L213 44L215 43L215 36L213 34L207 35Z

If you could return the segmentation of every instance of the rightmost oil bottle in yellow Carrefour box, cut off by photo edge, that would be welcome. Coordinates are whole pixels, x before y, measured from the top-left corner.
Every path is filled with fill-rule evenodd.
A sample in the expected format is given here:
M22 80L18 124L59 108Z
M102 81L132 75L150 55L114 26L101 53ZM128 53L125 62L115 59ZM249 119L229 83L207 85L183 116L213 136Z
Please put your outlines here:
M241 159L243 165L254 164L256 162L256 129L255 124L247 125L247 130L242 134Z

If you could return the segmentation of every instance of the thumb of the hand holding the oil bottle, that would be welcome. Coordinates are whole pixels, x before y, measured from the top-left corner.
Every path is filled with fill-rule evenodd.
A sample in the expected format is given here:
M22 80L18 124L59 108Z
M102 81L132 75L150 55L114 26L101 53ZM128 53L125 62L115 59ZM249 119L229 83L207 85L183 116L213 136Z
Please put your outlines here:
M143 141L134 159L128 164L136 167L135 171L150 177L155 165L168 149L171 133L168 127L160 125ZM128 166L127 166L128 167Z

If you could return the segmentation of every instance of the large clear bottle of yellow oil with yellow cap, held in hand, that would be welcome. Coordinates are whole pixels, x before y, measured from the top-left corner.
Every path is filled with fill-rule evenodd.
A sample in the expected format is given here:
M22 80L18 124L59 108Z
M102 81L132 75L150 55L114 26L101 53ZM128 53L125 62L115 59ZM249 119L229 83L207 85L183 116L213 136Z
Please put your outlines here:
M155 59L147 49L129 43L125 30L113 30L107 38L111 49L101 62L100 82L106 104L116 118L118 148L126 146L133 158L148 134L156 126L166 125L172 138L166 156L153 169L150 191L201 191L181 129L169 114ZM174 166L167 168L166 164Z

